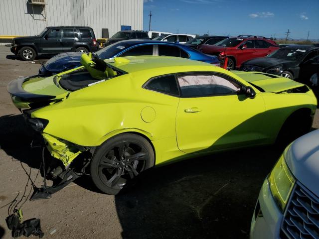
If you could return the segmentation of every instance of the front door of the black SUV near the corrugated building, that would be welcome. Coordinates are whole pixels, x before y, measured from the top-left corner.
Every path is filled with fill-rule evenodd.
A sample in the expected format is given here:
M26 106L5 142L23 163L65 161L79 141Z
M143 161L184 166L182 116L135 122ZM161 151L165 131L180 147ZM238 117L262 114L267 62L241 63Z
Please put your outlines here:
M41 44L43 53L63 52L61 30L59 28L50 29L45 35Z

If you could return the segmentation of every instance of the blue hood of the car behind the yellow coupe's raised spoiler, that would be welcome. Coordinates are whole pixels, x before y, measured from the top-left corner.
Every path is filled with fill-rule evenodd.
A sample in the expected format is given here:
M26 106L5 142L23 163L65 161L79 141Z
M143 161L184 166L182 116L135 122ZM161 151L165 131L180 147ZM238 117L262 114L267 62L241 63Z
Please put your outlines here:
M48 60L44 67L51 72L61 72L66 69L75 68L81 65L82 52L60 53Z

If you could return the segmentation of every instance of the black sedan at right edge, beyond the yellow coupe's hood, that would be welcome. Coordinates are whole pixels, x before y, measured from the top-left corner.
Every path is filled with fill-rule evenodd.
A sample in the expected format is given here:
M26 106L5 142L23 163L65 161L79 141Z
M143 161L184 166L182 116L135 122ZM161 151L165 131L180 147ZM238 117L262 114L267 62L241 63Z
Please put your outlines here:
M266 57L244 62L241 70L266 72L310 85L310 78L319 71L319 47L286 46Z

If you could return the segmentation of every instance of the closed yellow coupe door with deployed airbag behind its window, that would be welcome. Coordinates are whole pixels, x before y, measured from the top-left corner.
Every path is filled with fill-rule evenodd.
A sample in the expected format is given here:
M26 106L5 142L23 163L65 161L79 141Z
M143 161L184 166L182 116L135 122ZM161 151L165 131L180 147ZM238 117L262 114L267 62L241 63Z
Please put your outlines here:
M261 95L248 98L244 86L220 73L176 77L181 94L176 115L180 150L209 152L264 142Z

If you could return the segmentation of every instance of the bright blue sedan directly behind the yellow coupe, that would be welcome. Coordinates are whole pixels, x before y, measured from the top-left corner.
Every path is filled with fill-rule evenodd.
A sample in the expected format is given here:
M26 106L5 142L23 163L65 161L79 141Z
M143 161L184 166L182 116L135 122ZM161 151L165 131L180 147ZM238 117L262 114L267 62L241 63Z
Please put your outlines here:
M40 75L53 75L81 66L81 52L60 53L44 65L39 70ZM154 41L154 40L125 40L109 45L95 53L100 59L124 56L176 56L191 60L203 61L219 66L216 56L206 55L200 51L178 43Z

